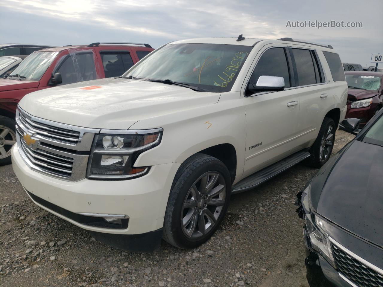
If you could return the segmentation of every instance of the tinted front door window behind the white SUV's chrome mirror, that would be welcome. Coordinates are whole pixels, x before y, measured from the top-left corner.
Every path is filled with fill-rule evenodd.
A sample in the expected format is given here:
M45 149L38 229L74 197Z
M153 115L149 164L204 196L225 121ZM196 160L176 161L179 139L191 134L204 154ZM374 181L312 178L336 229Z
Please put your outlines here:
M250 83L257 83L260 76L283 77L285 88L290 87L290 73L284 48L271 48L262 54L250 77Z

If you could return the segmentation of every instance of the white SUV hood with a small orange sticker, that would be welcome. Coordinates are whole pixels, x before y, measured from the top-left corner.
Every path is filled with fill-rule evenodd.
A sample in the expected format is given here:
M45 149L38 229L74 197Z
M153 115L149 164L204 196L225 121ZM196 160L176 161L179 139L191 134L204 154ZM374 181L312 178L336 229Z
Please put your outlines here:
M64 124L128 129L140 119L217 103L219 96L176 85L107 78L36 91L19 105L33 116Z

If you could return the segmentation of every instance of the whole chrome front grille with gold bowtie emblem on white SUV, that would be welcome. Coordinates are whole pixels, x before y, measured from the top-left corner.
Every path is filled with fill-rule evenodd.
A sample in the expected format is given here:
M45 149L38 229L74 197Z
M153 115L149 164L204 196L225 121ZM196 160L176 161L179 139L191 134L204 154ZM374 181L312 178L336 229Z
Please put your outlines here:
M78 181L85 178L93 138L100 130L48 121L18 108L16 132L18 150L29 168Z

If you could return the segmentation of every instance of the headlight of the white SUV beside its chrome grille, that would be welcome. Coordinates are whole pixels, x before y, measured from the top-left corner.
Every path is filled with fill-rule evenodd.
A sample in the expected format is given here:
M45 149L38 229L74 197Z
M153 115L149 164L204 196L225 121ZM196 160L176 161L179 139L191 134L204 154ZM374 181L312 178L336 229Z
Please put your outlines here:
M93 143L88 178L128 179L146 174L149 166L134 167L137 157L159 145L162 129L101 130Z

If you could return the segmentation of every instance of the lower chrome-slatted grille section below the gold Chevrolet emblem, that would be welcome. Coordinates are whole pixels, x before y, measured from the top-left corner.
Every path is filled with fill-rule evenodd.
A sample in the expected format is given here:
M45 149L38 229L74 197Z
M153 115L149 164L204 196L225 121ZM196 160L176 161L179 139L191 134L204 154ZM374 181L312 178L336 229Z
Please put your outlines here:
M20 143L21 149L26 157L28 157L28 159L41 170L64 178L70 178L72 175L73 158L62 157L39 148L33 150L25 144L24 140L20 140Z

